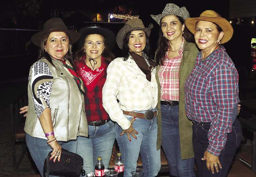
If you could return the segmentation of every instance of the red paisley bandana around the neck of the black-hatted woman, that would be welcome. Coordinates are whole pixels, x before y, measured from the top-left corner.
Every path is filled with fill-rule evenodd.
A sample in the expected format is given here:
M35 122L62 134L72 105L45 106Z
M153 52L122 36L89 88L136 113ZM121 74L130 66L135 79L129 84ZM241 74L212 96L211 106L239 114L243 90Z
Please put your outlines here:
M97 85L98 81L104 76L105 70L107 68L104 62L104 57L101 57L101 66L94 71L89 68L85 63L86 55L82 57L82 60L77 66L76 72L79 74L80 78L83 80L84 85L88 91L92 91Z

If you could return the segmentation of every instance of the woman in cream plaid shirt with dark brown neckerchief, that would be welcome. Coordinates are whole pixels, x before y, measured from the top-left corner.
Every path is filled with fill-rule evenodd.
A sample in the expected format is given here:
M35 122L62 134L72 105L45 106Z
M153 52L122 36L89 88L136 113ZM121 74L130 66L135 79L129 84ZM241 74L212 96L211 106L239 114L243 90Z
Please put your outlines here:
M116 122L124 177L136 170L139 154L145 177L156 176L161 167L160 150L156 149L156 63L150 56L148 39L152 28L152 24L145 28L142 20L135 18L120 29L116 42L124 56L109 64L102 92L103 107Z

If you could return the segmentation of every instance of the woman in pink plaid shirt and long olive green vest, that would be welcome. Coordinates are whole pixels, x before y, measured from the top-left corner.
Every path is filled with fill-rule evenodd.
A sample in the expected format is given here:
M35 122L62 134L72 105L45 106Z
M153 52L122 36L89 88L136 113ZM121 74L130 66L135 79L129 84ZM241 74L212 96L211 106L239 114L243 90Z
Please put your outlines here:
M195 65L198 49L184 21L186 7L166 4L151 17L160 25L155 61L158 81L158 149L162 147L171 176L194 177L192 122L185 112L184 84ZM161 125L161 126L160 126Z

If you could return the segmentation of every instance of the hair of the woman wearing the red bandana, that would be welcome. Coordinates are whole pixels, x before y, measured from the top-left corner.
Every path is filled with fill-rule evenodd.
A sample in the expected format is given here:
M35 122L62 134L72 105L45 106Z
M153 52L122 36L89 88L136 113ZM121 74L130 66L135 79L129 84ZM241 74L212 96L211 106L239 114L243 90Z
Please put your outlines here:
M89 35L87 35L85 37L84 41L86 41L88 36ZM109 50L109 48L108 48L109 45L108 45L108 41L106 40L106 38L104 36L102 36L102 37L103 37L103 43L104 43L105 48L101 55L105 58L106 63L109 64L111 61L114 60L115 55ZM78 63L80 63L80 61L82 60L84 55L86 55L86 52L85 52L84 45L83 45L78 51L75 52L74 60L77 61Z

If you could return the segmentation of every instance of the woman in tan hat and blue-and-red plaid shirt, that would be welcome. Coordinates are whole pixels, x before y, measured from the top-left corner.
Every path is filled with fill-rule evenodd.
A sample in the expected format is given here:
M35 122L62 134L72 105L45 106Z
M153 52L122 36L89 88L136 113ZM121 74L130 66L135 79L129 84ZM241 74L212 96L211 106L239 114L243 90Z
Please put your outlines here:
M232 25L212 10L188 18L201 52L185 84L186 113L193 124L193 147L199 177L225 177L241 142L238 120L238 72L225 48ZM215 173L215 171L217 173Z

